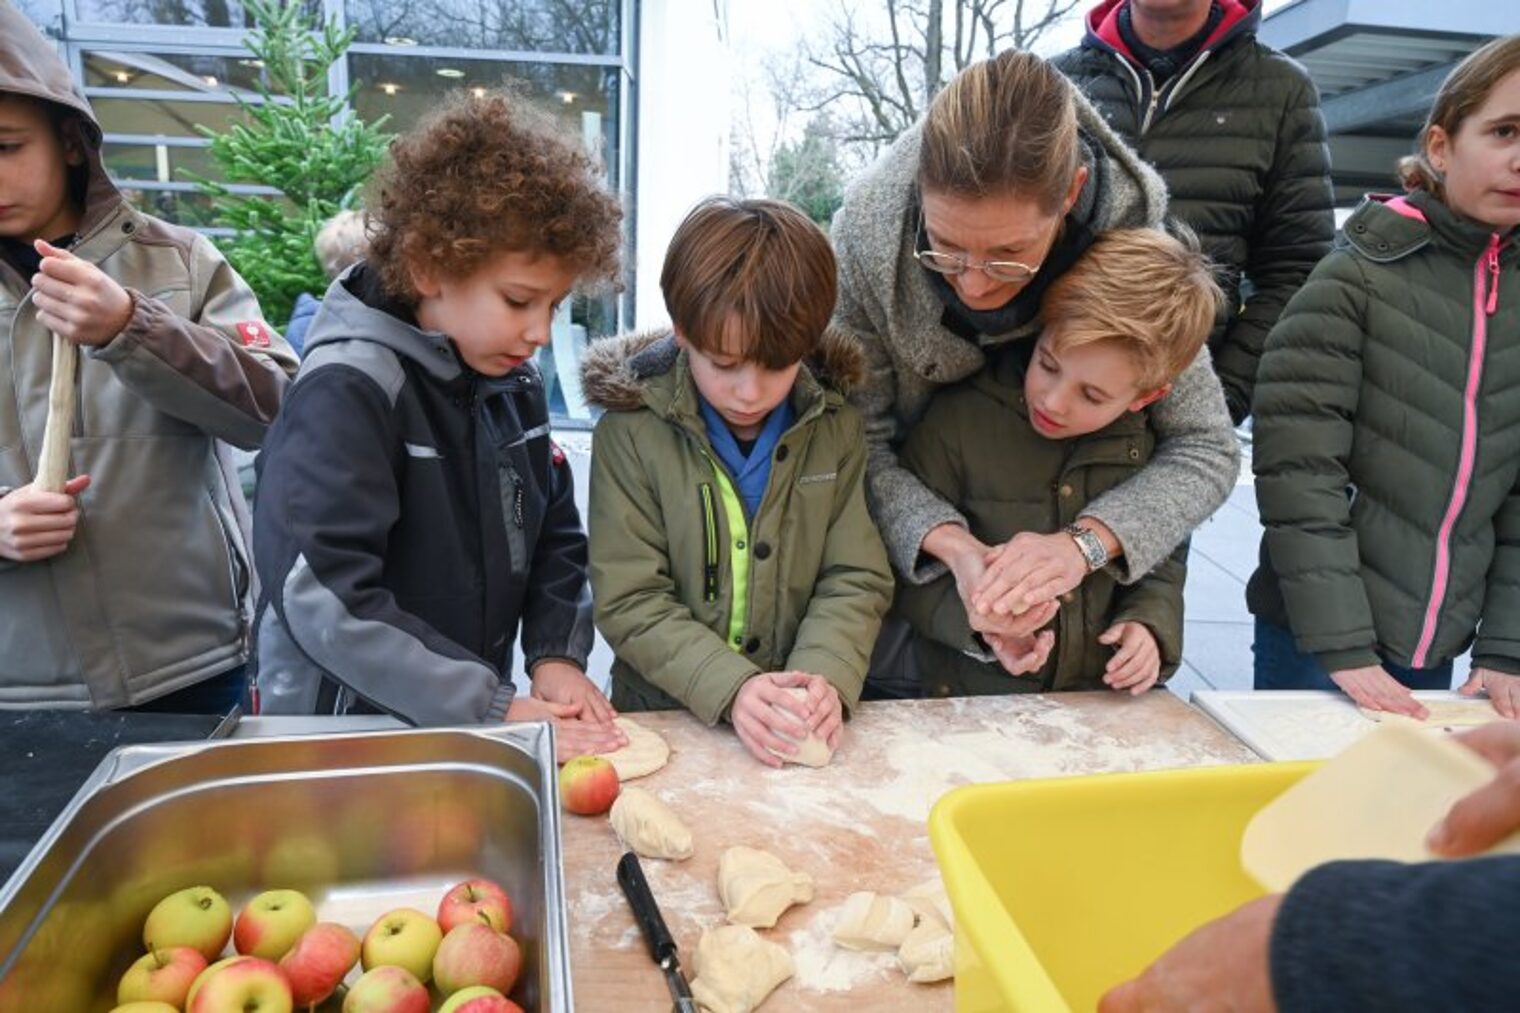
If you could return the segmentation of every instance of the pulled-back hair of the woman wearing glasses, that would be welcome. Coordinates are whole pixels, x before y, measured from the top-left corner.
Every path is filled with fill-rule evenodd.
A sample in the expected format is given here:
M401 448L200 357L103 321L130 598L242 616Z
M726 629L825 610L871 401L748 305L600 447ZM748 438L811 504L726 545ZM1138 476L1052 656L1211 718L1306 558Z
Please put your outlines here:
M1081 160L1072 82L1038 56L1008 50L971 64L935 96L918 186L973 198L1028 195L1058 213Z

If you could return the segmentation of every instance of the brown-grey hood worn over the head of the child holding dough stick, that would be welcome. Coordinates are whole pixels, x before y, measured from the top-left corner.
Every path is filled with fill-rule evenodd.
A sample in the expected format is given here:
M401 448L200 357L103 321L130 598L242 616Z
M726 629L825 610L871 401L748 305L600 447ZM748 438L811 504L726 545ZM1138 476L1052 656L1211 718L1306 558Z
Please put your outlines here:
M53 44L9 0L0 0L0 91L41 99L71 114L61 129L85 152L88 183L79 234L87 234L122 202L100 158L100 122Z

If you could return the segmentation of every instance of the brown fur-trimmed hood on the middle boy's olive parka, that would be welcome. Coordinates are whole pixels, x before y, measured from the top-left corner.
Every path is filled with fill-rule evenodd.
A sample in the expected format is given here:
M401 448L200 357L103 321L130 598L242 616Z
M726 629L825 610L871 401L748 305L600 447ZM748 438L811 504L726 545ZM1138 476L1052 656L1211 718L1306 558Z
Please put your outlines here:
M581 362L582 391L605 411L643 408L649 382L670 373L678 354L670 329L603 338ZM848 394L865 376L865 353L853 336L828 327L806 367L822 386Z

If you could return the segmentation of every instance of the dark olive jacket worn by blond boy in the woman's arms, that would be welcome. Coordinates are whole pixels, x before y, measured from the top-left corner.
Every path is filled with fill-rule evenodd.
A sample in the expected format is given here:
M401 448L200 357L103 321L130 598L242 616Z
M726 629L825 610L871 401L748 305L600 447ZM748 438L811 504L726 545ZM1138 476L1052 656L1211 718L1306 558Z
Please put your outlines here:
M1073 523L1088 502L1143 468L1155 447L1149 409L1125 412L1084 437L1041 437L1024 403L1028 354L1028 342L1000 350L970 380L935 394L903 444L903 465L959 508L971 534L986 545ZM929 695L1107 689L1104 668L1113 648L1097 637L1116 622L1151 630L1163 677L1181 663L1184 558L1173 552L1134 584L1120 584L1104 569L1062 595L1050 627L1055 648L1044 668L1029 675L1008 675L973 636L950 573L929 584L903 584L895 607L927 640L918 657Z

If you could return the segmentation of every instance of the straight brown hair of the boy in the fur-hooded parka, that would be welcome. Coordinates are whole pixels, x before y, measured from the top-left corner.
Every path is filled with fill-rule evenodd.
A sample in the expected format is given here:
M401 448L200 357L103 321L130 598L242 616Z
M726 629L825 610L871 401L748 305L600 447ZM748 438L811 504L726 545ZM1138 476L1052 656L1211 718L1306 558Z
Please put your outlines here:
M666 251L660 291L681 336L768 370L801 362L834 312L834 251L810 218L784 201L714 196L686 216Z

